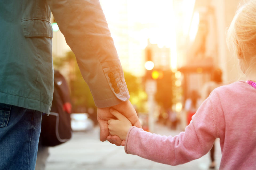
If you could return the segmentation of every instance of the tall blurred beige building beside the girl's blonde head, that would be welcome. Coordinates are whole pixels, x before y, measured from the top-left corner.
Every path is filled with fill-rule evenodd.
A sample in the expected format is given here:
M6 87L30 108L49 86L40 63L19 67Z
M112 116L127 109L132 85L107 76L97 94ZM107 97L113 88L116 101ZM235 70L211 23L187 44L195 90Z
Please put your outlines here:
M174 6L186 8L186 0L175 0ZM178 64L183 73L183 95L186 99L192 90L200 89L210 80L213 67L223 71L224 83L231 83L241 75L237 59L226 45L226 29L231 23L239 0L195 0L193 12L190 15L190 24L187 32L182 32L177 24L177 36L186 37L177 40L177 54L182 58ZM187 5L191 5L187 2ZM184 20L184 13L175 11L176 16ZM182 25L184 27L184 25ZM187 34L186 34L187 33ZM184 50L186 49L186 50ZM179 62L179 61L178 61Z

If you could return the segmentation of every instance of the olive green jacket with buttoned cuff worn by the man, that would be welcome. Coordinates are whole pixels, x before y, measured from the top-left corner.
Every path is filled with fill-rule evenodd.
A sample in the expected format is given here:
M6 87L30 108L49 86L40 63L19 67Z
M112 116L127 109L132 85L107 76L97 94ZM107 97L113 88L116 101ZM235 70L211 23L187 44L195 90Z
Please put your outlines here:
M0 2L0 103L49 113L53 98L51 11L97 107L129 99L99 1Z

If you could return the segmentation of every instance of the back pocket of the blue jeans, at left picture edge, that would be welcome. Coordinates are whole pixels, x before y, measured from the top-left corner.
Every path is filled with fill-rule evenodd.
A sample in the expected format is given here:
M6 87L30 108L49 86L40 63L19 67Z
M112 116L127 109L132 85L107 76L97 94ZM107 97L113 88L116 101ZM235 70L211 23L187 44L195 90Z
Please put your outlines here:
M7 126L10 117L11 105L0 103L0 128Z

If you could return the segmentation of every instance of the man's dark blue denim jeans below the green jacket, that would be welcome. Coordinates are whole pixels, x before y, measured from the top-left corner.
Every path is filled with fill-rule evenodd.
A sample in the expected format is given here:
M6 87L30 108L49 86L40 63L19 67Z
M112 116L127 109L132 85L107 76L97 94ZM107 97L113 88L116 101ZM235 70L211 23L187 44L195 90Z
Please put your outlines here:
M0 170L35 169L42 112L0 103Z

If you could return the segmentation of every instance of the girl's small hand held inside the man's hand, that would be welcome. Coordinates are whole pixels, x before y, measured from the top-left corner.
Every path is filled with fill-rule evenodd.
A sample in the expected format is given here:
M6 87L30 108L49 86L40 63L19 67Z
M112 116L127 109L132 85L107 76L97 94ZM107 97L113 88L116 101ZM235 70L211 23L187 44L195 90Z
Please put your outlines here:
M110 108L109 111L117 118L117 120L110 119L107 121L109 134L112 136L117 135L121 140L125 140L126 135L132 126L131 122L115 109Z

